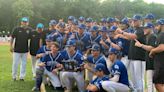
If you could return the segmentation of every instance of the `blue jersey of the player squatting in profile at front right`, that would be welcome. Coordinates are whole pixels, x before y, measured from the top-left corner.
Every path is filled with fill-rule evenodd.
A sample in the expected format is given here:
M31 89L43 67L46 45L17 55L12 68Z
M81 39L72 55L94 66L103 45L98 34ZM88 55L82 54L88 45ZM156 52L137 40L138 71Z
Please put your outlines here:
M128 73L125 65L120 61L116 60L111 68L111 77L119 75L119 83L129 86Z

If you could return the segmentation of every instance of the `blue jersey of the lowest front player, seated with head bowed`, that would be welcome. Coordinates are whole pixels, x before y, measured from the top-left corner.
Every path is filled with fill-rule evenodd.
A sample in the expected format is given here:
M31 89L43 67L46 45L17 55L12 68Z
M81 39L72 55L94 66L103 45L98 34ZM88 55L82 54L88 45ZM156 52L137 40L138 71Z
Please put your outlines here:
M108 76L97 77L97 78L95 78L94 80L92 80L90 84L95 85L95 86L98 88L98 92L106 92L106 91L102 88L102 84L101 84L103 81L106 81L106 80L109 80L109 77L108 77ZM88 92L92 92L92 91L89 91L89 90L88 90Z

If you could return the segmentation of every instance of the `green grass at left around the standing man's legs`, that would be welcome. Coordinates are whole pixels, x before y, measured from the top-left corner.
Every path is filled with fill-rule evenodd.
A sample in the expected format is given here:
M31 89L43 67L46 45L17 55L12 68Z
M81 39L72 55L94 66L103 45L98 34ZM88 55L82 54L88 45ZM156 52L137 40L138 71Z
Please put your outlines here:
M12 81L12 53L9 51L8 45L0 45L0 92L31 92L34 86L31 72L30 58L27 62L25 81ZM19 74L19 72L18 72ZM54 92L50 88L47 92Z

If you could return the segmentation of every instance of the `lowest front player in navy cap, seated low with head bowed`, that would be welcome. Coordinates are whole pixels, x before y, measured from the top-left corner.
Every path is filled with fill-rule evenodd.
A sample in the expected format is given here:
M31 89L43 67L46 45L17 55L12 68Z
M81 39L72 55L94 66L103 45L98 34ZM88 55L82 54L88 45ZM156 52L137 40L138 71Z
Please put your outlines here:
M101 84L103 81L109 80L109 77L105 75L105 65L98 63L94 71L97 77L87 86L87 92L106 92Z

